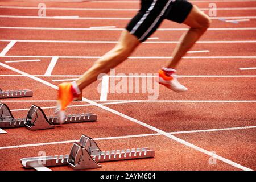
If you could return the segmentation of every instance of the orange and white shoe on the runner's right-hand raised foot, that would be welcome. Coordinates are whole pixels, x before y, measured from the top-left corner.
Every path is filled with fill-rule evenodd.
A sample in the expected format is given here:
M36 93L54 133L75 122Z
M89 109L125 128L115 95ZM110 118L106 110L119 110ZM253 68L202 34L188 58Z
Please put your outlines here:
M188 90L184 85L181 85L180 82L177 80L175 70L173 70L171 74L167 74L163 69L160 69L158 73L159 84L162 84L175 92L185 92Z

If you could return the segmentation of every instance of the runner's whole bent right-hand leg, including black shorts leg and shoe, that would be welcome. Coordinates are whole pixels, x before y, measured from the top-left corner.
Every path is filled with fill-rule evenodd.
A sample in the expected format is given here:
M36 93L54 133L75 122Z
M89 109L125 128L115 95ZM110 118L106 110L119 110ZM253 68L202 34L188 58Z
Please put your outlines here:
M172 53L172 59L159 71L159 83L176 92L184 92L188 89L181 85L175 76L176 67L185 53L195 44L201 35L210 26L210 19L196 6L185 0L176 0L172 3L166 18L177 23L187 24L189 30L180 38L180 43Z

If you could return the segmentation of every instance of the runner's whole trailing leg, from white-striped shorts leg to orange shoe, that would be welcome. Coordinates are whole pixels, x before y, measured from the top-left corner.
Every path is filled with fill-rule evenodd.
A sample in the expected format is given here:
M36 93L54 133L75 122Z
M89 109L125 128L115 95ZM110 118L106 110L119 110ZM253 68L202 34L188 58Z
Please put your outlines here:
M142 8L130 21L126 30L122 32L119 43L108 53L94 63L77 81L62 83L59 85L60 121L63 121L64 110L72 102L73 98L81 94L81 90L97 80L101 73L108 73L134 51L134 49L148 38L163 21L164 11L170 1L142 1Z

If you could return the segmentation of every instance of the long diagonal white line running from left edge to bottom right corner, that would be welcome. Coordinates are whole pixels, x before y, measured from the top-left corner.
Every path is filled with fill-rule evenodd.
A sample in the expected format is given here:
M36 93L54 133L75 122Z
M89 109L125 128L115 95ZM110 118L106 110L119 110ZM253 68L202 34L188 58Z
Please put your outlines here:
M49 86L49 87L51 87L51 88L59 89L56 85L53 85L53 84L51 84L51 83L49 83L49 82L47 82L47 81L44 81L44 80L42 80L42 79L40 79L40 78L38 78L38 77L34 77L34 76L32 76L32 75L29 75L28 73L25 73L25 72L22 72L22 71L20 71L20 70L18 70L18 69L15 69L15 68L13 68L13 67L10 67L9 65L0 63L0 66L2 66L2 67L4 67L4 68L7 68L7 69L10 69L11 71L17 72L17 73L19 73L19 74L21 74L21 75L26 75L27 77L31 78L32 80L39 81L39 82L41 82L42 84L45 84L45 85L47 85L47 86ZM106 110L106 111L109 111L110 113L116 114L116 115L118 115L119 117L128 119L128 120L131 121L131 122L137 123L138 125L144 126L144 127L146 127L147 129L150 129L150 130L152 130L152 131L155 131L156 133L162 134L162 135L166 136L167 138L170 138L170 139L172 139L172 140L175 140L175 141L178 142L178 143L184 144L184 145L187 146L187 147L191 147L191 148L193 148L193 149L196 150L196 151L202 152L202 153L204 153L204 154L206 154L206 155L208 155L208 156L211 156L211 157L213 157L213 158L216 158L216 159L218 159L218 160L221 160L222 162L227 163L227 164L229 164L230 166L233 166L233 167L236 167L236 168L245 170L245 171L251 171L250 168L247 168L247 167L245 167L245 166L242 166L241 164L238 164L238 163L236 163L236 162L233 162L232 160L223 158L223 157L220 156L220 155L217 155L217 154L214 154L213 152L207 151L207 150L205 150L204 148L198 147L198 146L196 146L195 144L189 143L189 142L187 142L187 141L185 141L185 140L183 140L183 139L177 138L177 137L175 137L174 135L171 135L171 134L169 134L169 133L166 133L165 131L160 130L160 129L154 127L154 126L151 126L151 125L148 125L148 124L146 124L146 123L143 123L143 122L139 121L138 119L129 117L128 115L123 114L123 113L120 113L119 111L116 111L116 110L114 110L114 109L110 109L109 107L106 107L106 106L104 106L104 105L98 104L97 102L93 102L93 101L91 101L91 100L88 100L88 99L85 98L85 97L82 97L82 100L83 100L83 101L86 101L86 102L88 102L89 104L92 104L92 105L94 105L94 106L100 107L101 109L104 109L104 110Z

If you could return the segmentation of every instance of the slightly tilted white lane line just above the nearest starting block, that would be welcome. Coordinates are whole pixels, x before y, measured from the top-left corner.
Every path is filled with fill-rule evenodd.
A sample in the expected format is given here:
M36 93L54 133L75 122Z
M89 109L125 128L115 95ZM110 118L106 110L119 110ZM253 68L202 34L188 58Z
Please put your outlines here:
M243 127L229 127L223 129L206 129L206 130L190 130L190 131L174 131L168 134L188 134L188 133L208 133L215 131L229 131L229 130L243 130L243 129L255 129L256 126L243 126ZM125 138L138 138L138 137L151 137L151 136L159 136L162 134L152 133L152 134L138 134L138 135L125 135L125 136L117 136L117 137L102 137L102 138L93 138L94 140L112 140L112 139L125 139ZM0 147L0 150L12 149L12 148L23 148L23 147L36 147L36 146L47 146L53 144L65 144L65 143L74 143L79 142L79 140L67 140L67 141L59 141L59 142L48 142L48 143L34 143L34 144L23 144L17 146L6 146Z

